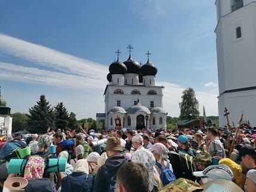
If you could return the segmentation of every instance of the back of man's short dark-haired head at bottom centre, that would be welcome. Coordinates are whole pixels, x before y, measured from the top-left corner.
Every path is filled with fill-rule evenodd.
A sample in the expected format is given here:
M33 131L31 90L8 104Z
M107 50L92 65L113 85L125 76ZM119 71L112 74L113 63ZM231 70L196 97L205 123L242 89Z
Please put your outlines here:
M116 184L122 184L127 192L148 192L149 172L142 164L129 162L118 169Z

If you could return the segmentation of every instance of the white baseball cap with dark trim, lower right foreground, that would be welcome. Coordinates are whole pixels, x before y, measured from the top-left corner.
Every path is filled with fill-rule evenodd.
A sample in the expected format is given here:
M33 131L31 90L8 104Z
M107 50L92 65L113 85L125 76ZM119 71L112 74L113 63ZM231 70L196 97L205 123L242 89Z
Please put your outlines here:
M196 177L208 177L210 179L226 179L233 178L233 172L227 165L211 165L203 171L194 171L193 175Z

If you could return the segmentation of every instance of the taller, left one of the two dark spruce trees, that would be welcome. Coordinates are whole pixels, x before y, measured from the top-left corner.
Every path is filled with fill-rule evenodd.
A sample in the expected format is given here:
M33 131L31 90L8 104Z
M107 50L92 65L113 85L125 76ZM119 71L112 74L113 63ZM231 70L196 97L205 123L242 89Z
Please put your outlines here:
M46 132L48 127L54 128L54 110L45 99L45 95L41 95L40 100L36 103L29 109L30 114L27 114L27 131Z

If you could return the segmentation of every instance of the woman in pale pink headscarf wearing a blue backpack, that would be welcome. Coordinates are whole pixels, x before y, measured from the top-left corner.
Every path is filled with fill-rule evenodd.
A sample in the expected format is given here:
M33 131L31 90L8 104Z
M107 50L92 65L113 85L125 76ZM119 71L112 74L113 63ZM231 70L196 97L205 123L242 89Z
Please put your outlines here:
M149 150L153 153L156 162L160 163L162 167L165 169L167 167L167 164L169 164L169 169L173 172L172 165L169 163L168 160L168 148L165 147L162 143L155 143ZM158 174L161 175L162 171L161 169L155 165L156 171L158 171Z

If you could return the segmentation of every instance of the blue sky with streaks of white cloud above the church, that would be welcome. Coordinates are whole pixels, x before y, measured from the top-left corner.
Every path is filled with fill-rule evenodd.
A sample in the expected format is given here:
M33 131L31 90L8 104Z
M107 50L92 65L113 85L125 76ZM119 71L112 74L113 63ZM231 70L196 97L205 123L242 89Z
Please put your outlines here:
M0 0L0 86L11 113L29 113L44 94L76 118L104 113L109 66L132 59L158 68L163 107L178 117L193 88L199 112L218 115L215 1Z

